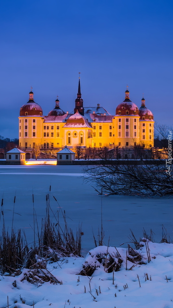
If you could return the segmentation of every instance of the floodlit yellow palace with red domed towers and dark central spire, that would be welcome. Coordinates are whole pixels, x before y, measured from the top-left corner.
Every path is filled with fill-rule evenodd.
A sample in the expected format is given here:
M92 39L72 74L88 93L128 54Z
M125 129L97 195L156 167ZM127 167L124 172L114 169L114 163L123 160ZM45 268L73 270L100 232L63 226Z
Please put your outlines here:
M32 90L32 89L31 89ZM20 108L19 146L29 149L39 146L43 151L81 147L131 147L143 144L154 145L154 120L145 106L144 97L138 108L130 100L128 89L125 99L111 115L104 107L84 107L81 97L80 78L74 113L61 109L56 99L55 107L43 115L41 106L34 102L33 91L29 101Z

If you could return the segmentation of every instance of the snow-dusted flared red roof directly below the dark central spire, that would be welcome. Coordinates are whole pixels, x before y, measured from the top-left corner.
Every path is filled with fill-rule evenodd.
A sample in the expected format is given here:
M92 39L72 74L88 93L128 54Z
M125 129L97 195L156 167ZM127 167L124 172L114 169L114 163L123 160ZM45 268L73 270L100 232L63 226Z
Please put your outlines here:
M71 115L64 127L88 127L92 128L85 116L81 115L77 110L74 115Z

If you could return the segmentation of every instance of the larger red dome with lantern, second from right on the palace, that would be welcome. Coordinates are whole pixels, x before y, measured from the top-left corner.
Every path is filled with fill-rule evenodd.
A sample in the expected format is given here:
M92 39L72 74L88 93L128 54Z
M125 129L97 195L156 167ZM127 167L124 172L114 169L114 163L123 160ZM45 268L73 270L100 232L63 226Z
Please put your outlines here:
M138 107L129 98L128 88L125 91L125 99L116 107L116 115L139 115Z

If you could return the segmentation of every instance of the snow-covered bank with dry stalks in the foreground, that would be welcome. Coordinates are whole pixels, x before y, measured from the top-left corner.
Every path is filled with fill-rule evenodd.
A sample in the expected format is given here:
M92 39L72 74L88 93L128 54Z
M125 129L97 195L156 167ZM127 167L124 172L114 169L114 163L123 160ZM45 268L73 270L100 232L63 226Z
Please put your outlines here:
M117 248L123 263L114 272L114 281L113 273L106 273L104 265L97 261L99 253L107 253L106 246L90 250L86 258L69 257L49 263L49 272L45 273L51 273L62 284L29 283L23 280L28 270L16 277L2 276L0 307L7 307L8 296L9 308L29 308L33 304L35 308L172 308L173 244L148 242L149 263L145 243L142 244L138 252L145 264L128 261L127 270L126 249ZM108 253L117 260L114 247ZM86 262L96 262L92 277L79 275Z

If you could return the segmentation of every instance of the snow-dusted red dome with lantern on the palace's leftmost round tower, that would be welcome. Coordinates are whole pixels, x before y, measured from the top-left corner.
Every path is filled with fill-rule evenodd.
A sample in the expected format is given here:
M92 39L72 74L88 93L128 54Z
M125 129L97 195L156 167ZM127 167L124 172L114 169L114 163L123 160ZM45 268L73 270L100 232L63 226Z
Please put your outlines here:
M42 108L33 100L32 90L29 92L29 101L20 108L20 116L43 115Z

